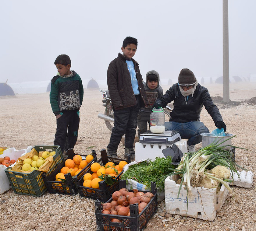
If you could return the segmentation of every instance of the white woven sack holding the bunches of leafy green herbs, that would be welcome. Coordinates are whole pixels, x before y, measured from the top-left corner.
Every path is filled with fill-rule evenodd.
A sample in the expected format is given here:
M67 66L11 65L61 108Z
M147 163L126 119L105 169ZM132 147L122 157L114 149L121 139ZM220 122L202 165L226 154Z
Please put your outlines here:
M130 166L132 166L134 164L137 164L137 163L140 163L140 162L143 162L143 161L149 162L149 159L141 159L140 161L133 161L133 162L131 162L129 164L126 164L123 167L123 172L125 173ZM132 180L132 179L126 179L126 180L127 180L127 186L126 186L127 189L131 189L132 188L132 189L138 189L139 191L146 191L146 190L148 190L146 185L141 184L141 183L137 182L136 180ZM160 202L160 201L162 201L165 198L165 193L164 193L164 191L159 192L158 189L156 191L157 191L157 202Z

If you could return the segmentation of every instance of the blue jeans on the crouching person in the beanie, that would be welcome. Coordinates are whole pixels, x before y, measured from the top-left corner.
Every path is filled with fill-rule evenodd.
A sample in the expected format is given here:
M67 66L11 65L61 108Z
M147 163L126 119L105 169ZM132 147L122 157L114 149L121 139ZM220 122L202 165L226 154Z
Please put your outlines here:
M166 131L179 131L182 139L188 139L187 145L195 145L202 141L201 133L209 132L204 123L200 121L191 121L187 123L178 123L174 121L165 122Z

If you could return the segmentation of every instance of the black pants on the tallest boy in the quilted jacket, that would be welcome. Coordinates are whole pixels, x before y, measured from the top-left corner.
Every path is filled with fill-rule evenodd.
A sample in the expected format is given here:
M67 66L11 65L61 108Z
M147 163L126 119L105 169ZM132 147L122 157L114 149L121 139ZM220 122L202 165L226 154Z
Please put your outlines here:
M135 106L114 111L115 124L111 132L109 144L107 146L108 149L117 150L117 147L124 134L125 147L133 148L139 110L140 103L138 101Z

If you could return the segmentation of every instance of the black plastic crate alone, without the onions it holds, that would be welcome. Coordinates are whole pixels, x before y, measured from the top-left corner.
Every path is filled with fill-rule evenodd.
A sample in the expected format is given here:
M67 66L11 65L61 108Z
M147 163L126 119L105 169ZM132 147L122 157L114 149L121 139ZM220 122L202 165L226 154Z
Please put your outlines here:
M119 189L126 188L126 180L119 181ZM129 190L133 192L133 190ZM150 191L142 191L144 193ZM102 205L100 201L95 201L95 216L97 231L141 231L147 226L148 221L157 211L157 192L155 182L151 182L151 193L154 197L148 203L148 205L140 212L138 204L130 205L130 216L120 216L120 215L109 215L102 214ZM107 203L111 202L113 199L110 198ZM111 222L110 220L116 218L121 220L121 223Z

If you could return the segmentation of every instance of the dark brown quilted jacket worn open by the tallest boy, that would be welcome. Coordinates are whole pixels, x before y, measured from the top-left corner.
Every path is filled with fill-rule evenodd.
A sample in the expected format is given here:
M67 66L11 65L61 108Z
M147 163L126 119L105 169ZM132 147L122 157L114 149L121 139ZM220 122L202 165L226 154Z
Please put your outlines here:
M143 85L143 79L140 74L139 64L133 58L131 60L133 61L138 80L140 96L142 99L141 107L144 107L148 104L148 100ZM115 58L108 66L108 91L115 110L131 107L137 103L131 84L130 72L125 61L126 58L119 53L118 57Z

